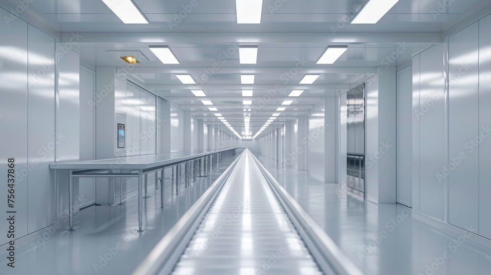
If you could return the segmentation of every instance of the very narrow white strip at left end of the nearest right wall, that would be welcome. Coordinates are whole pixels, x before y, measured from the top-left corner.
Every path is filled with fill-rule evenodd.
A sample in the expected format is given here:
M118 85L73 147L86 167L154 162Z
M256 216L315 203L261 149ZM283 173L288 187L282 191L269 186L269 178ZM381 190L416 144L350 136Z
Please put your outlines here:
M420 209L420 179L419 179L419 162L420 162L420 59L421 55L412 57L412 209Z

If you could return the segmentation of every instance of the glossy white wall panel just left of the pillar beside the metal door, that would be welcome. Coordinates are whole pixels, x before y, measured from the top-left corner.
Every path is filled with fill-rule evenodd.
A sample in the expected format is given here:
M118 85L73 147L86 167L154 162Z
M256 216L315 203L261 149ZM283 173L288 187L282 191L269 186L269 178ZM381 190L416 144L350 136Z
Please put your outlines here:
M325 109L324 104L310 111L308 121L309 141L309 172L324 179L325 159L324 159L324 132L325 132Z

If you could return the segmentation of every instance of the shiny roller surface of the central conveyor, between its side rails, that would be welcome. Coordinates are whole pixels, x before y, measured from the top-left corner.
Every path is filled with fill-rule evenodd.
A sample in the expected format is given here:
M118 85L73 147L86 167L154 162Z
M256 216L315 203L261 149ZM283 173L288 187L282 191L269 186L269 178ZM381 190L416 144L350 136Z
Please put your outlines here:
M172 274L322 273L247 150Z

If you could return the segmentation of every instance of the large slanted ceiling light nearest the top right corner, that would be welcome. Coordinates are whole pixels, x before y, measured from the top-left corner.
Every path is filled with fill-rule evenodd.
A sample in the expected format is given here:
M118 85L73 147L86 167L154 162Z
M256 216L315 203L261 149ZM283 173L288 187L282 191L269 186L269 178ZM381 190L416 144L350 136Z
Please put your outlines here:
M399 0L370 0L355 15L351 24L375 24L398 2Z

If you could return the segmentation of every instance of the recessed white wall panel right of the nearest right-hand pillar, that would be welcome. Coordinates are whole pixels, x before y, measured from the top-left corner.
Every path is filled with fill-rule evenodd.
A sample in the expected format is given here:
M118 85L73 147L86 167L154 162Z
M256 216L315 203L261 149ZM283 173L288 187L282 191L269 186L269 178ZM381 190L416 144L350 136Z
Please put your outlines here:
M412 206L412 67L397 72L397 202Z

